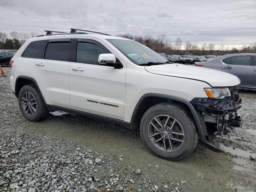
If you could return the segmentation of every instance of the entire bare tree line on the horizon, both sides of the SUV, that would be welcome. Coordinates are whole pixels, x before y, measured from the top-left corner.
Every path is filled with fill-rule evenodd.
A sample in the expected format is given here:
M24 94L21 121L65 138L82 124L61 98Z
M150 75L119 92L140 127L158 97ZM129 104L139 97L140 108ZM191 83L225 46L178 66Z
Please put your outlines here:
M0 49L19 49L22 44L28 38L36 37L38 34L35 32L31 33L18 33L16 31L10 32L9 34L0 31ZM232 53L256 53L256 42L250 44L249 46L243 45L240 48L235 48L228 45L220 44L215 45L213 43L210 44L202 44L201 46L192 43L190 41L186 41L182 44L181 38L176 38L174 43L170 41L166 34L160 34L156 38L153 36L137 36L132 34L120 34L120 37L128 38L140 42L145 46L153 49L158 53L166 53L166 54L193 54L193 55L225 55Z

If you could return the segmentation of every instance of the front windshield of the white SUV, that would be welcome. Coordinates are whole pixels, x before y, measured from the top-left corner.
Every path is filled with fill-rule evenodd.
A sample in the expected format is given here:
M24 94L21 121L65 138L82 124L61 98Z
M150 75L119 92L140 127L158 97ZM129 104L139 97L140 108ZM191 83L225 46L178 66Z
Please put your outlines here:
M148 62L166 63L168 61L160 54L136 41L123 39L107 40L137 65L147 64Z

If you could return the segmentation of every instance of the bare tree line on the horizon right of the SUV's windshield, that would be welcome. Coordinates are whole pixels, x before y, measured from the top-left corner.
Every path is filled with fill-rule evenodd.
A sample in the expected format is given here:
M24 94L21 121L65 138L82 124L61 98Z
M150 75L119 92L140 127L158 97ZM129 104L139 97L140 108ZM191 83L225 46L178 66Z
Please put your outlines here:
M256 53L256 42L250 44L249 46L243 45L240 48L235 48L230 46L225 46L224 44L215 45L202 44L198 46L195 43L186 41L182 44L181 38L176 38L174 43L170 41L166 34L160 34L156 38L153 36L137 36L132 34L120 34L118 35L123 38L128 38L140 42L153 49L158 53L165 53L170 55L183 55L183 54L192 54L192 55L225 55L233 53Z

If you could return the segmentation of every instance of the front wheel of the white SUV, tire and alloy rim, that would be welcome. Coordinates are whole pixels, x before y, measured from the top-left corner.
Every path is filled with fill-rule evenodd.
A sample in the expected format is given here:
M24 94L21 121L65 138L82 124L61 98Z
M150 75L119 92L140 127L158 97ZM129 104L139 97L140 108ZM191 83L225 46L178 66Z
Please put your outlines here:
M159 130L161 126L157 124L155 118L157 117L156 119L158 119L158 121L160 120L161 122L161 118L163 116L169 116L169 119L167 126L163 128L165 131L161 135L156 131L155 127L158 126L157 128ZM163 122L161 122L161 124L165 124L164 120L162 121ZM154 122L153 124L155 126L153 126L151 122ZM173 126L171 126L173 122L175 123ZM167 131L168 129L169 131ZM182 134L182 131L184 134L183 136L179 135ZM166 132L169 132L167 136ZM171 134L170 132L176 132L179 134ZM150 137L154 134L157 135ZM170 102L157 104L145 112L140 123L140 135L142 137L142 141L150 152L160 158L174 161L188 157L196 148L199 139L194 120L191 118L188 110L186 108L182 108L182 106L178 104L173 104ZM165 136L163 138L163 140L166 139L165 144L162 142L163 140L160 140L155 144L153 143L159 140L162 136ZM176 141L177 138L178 140L183 140L183 143ZM172 142L172 144L170 144L170 142Z

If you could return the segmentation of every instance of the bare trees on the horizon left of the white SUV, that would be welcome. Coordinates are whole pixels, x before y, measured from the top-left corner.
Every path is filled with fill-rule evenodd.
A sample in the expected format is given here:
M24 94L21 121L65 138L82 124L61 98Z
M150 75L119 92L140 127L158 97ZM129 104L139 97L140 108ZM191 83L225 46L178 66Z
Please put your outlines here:
M37 33L18 33L16 31L6 32L0 31L0 49L19 49L26 39L36 37Z

